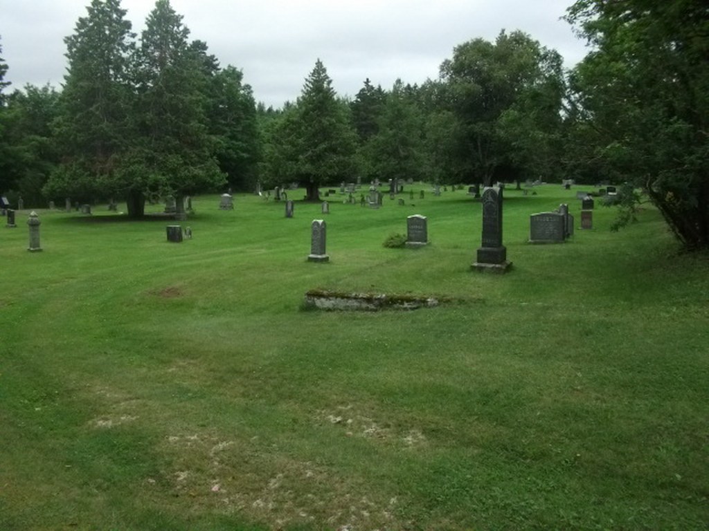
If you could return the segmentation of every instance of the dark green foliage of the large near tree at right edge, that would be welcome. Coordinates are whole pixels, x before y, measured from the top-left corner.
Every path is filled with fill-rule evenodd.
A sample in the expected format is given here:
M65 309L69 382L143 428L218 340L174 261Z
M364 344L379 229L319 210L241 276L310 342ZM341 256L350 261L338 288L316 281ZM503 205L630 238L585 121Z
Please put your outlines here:
M572 78L586 159L642 188L687 249L709 246L709 13L698 0L577 1Z

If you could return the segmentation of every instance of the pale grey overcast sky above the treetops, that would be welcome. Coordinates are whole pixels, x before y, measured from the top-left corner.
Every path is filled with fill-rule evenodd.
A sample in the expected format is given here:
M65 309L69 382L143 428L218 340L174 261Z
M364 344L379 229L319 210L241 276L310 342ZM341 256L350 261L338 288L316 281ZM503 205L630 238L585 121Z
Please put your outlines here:
M566 67L586 54L584 42L559 20L573 0L172 0L192 40L203 40L225 67L244 73L257 101L280 107L303 89L316 59L341 96L354 97L364 79L391 89L436 79L453 48L474 38L494 40L522 30L554 48ZM63 38L74 33L90 0L0 0L0 43L7 89L60 87ZM140 35L154 0L123 0Z

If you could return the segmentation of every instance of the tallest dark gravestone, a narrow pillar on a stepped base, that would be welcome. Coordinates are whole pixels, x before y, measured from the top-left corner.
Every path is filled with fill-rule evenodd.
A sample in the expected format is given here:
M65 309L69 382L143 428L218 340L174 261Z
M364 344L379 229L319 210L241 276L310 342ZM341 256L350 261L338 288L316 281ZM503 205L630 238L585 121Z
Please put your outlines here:
M512 265L507 261L507 249L502 244L502 190L486 187L483 190L482 246L472 268L479 271L506 273Z

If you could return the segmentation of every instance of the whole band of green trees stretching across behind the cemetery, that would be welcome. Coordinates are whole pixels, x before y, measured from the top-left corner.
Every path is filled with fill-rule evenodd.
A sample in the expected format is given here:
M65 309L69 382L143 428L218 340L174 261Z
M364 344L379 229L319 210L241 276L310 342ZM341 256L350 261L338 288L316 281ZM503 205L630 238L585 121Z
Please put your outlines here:
M656 4L576 1L566 20L590 51L570 72L555 50L502 31L454 47L437 79L366 79L354 98L318 59L296 101L274 109L189 39L169 0L139 39L120 0L92 0L65 39L60 91L7 93L0 59L0 190L37 205L124 198L140 217L146 200L257 182L300 183L317 200L357 177L572 178L625 185L619 224L650 200L686 248L706 248L709 11Z

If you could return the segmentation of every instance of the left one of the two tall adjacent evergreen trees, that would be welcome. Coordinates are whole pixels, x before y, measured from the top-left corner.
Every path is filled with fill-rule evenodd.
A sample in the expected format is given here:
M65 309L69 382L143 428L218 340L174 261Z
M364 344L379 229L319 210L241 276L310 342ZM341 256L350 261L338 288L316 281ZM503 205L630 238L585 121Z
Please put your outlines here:
M130 138L131 24L120 0L93 0L65 38L69 62L56 121L63 154L45 195L88 200L118 193L116 167Z

